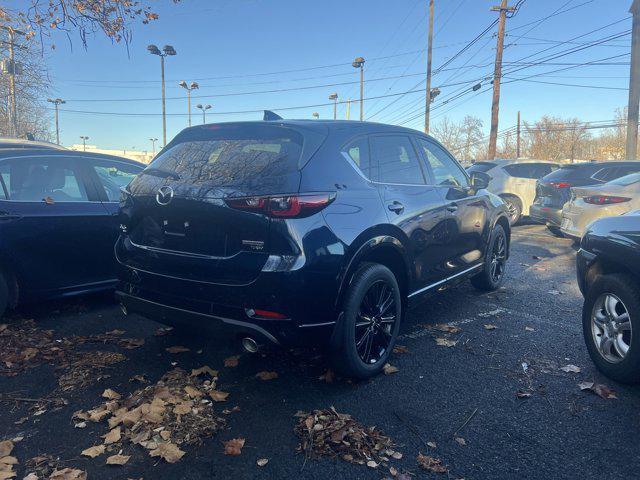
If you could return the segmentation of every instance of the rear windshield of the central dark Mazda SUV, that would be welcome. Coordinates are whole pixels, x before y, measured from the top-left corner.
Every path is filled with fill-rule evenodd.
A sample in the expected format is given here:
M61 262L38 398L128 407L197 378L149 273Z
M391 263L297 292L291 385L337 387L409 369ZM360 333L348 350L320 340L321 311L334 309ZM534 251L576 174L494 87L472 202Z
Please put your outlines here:
M247 185L298 170L303 137L279 126L186 130L145 169L150 175L216 186Z

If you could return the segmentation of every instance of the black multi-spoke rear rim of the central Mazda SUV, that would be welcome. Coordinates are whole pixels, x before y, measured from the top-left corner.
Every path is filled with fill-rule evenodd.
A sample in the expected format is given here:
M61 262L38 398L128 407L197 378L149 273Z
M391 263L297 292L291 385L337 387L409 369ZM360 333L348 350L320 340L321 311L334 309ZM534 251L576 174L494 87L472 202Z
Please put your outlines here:
M385 357L397 321L394 289L387 281L377 280L362 297L356 318L355 342L360 360L374 365Z

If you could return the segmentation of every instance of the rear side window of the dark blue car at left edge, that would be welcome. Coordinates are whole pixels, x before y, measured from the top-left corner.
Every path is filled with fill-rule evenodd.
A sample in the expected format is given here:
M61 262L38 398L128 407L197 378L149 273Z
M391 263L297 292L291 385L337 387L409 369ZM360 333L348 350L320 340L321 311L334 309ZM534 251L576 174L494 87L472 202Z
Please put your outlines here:
M73 162L65 158L19 159L0 167L8 200L86 202L87 192Z

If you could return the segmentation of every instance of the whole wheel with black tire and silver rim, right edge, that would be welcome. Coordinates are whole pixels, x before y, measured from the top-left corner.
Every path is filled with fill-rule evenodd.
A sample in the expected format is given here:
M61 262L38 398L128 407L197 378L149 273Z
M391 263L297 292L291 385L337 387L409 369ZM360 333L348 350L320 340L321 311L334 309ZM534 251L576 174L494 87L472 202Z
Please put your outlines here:
M604 303L610 298L613 298L610 304L613 309ZM614 315L607 318L611 310L614 311ZM629 330L625 328L624 315L621 315L625 311L629 318ZM600 313L600 318L604 318L603 325L610 319L614 320L613 331L607 330L611 328L611 324L604 328L597 326L594 319L598 316L597 312ZM587 351L598 370L621 383L640 382L640 284L634 277L616 273L602 275L593 282L585 295L582 307L582 332ZM605 356L597 342L602 342L603 338L610 338L612 333L616 340L612 346L604 349L610 351L610 356ZM620 355L619 349L622 349L623 345L627 346L626 354Z

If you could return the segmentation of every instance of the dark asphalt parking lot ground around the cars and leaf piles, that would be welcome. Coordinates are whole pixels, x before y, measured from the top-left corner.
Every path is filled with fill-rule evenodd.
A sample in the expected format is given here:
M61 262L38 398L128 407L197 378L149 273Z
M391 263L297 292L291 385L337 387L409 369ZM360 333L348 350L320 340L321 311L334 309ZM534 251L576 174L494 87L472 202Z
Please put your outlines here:
M640 389L605 379L588 358L574 256L571 241L544 227L515 227L504 287L481 294L463 284L414 308L398 342L405 348L391 358L397 372L362 383L327 375L318 352L250 355L237 343L159 330L125 317L108 296L25 306L0 331L0 440L15 439L17 478L47 478L65 467L91 479L633 478L640 471ZM84 355L96 363L78 366L74 350L102 353ZM207 404L222 420L202 442L183 444L179 461L151 457L131 442L96 458L81 455L109 430L74 412L104 403L106 389L124 398L176 367L205 365L219 372L216 389L229 395ZM561 369L567 365L580 371ZM581 390L585 381L607 385L611 398ZM296 412L332 406L379 428L401 458L372 468L297 453ZM223 442L234 438L245 439L241 454L225 455ZM131 458L105 464L118 453ZM421 469L420 453L446 471Z

